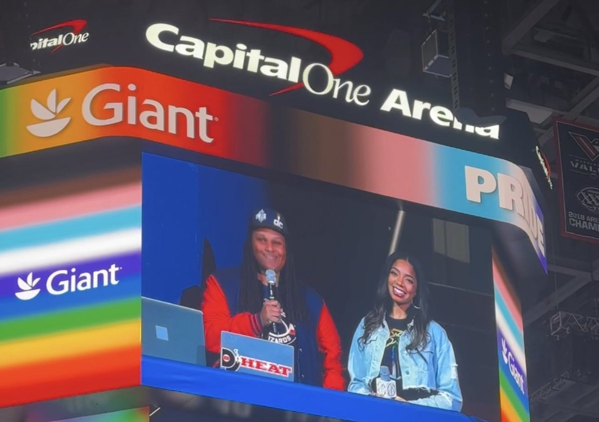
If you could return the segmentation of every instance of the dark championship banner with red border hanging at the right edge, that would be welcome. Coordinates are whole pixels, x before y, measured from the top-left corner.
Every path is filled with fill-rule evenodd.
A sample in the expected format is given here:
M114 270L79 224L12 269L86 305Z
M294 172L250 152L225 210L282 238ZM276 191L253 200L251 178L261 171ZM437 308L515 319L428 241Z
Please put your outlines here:
M599 243L599 128L555 121L562 234Z

